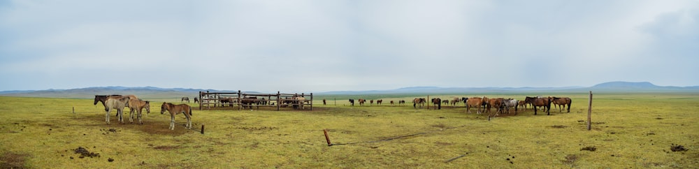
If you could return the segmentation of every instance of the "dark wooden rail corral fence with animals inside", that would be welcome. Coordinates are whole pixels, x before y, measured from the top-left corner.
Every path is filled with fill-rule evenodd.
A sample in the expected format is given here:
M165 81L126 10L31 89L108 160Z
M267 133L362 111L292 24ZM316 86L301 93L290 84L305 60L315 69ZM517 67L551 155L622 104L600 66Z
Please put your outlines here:
M308 98L307 98L308 96ZM304 98L299 101L297 98ZM309 99L310 98L310 99ZM313 110L313 93L310 94L282 94L277 91L277 94L246 94L243 92L204 92L199 91L199 110L206 107L238 107L238 110L252 109L260 107L277 108L303 108L308 105L310 110Z

